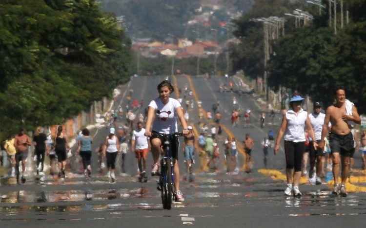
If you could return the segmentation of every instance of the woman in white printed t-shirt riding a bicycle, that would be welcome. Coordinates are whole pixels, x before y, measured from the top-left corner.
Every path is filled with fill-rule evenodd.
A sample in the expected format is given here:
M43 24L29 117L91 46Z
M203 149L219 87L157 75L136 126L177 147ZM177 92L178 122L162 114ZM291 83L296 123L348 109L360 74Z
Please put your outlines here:
M158 85L159 97L152 100L149 104L149 110L146 121L146 136L150 137L151 151L153 153L154 165L151 171L152 175L157 174L159 170L159 155L162 153L161 146L163 139L152 136L152 132L171 134L178 132L177 117L181 121L183 134L187 135L187 123L184 119L183 108L178 100L170 98L170 94L174 92L173 86L167 80ZM152 136L152 137L151 137ZM172 143L172 157L178 160L179 141L178 138ZM174 185L175 185L175 201L184 201L183 194L179 190L179 165L174 163Z

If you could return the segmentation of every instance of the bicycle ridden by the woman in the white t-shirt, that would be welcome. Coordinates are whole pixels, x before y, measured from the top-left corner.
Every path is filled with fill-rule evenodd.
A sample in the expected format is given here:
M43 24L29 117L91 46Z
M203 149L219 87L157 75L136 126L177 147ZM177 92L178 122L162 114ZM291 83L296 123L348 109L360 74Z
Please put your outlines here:
M173 197L174 197L174 173L173 168L175 160L172 157L172 150L170 144L175 137L183 136L183 133L173 133L173 134L162 134L162 133L152 133L152 136L163 138L162 146L164 155L160 160L160 177L158 183L158 190L162 194L163 209L170 210L172 207Z

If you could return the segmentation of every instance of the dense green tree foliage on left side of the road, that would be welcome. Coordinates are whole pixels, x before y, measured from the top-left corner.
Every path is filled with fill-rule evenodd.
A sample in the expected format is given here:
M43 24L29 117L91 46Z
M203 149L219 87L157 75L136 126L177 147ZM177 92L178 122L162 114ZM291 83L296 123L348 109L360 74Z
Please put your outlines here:
M96 0L0 2L1 131L62 123L127 80L130 41Z

